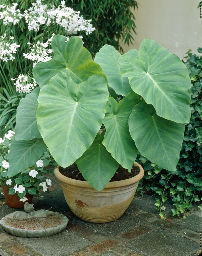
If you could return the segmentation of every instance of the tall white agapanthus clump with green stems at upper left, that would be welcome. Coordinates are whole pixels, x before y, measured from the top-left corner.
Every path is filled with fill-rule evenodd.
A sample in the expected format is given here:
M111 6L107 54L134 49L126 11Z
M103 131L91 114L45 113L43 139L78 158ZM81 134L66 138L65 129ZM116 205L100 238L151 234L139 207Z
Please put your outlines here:
M33 66L52 58L53 35L62 34L68 40L71 35L82 38L95 30L91 20L66 6L66 1L52 3L0 0L0 136L14 129L20 99L37 86Z

